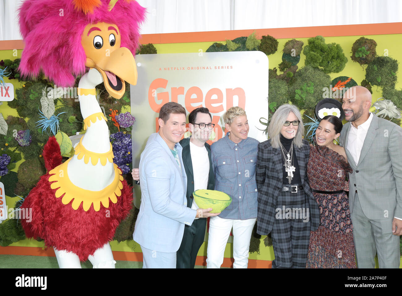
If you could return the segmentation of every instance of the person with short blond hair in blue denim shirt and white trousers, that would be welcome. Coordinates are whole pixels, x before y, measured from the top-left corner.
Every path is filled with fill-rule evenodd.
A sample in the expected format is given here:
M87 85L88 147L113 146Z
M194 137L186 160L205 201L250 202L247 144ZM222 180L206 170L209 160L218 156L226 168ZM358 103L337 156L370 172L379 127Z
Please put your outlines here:
M207 268L222 265L232 228L233 268L247 268L250 238L257 217L255 166L258 141L247 137L248 121L242 108L229 108L223 118L228 133L211 145L211 161L215 190L230 195L232 203L210 219Z

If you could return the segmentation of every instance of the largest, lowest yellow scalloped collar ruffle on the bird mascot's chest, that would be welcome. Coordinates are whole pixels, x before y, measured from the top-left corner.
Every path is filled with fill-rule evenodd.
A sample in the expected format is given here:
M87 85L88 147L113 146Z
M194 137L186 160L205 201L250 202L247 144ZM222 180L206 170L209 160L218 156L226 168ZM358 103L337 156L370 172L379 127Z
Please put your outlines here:
M57 189L55 192L56 198L62 197L64 205L73 200L72 208L74 210L78 209L82 203L84 211L88 211L92 204L95 211L99 211L100 203L102 203L103 207L108 208L109 199L112 203L117 203L117 197L121 196L121 189L123 189L123 183L121 182L123 181L123 176L116 164L113 164L115 169L113 182L102 190L92 191L82 189L70 181L67 174L67 166L70 159L49 172L51 175L49 182L53 182L50 184L50 188Z

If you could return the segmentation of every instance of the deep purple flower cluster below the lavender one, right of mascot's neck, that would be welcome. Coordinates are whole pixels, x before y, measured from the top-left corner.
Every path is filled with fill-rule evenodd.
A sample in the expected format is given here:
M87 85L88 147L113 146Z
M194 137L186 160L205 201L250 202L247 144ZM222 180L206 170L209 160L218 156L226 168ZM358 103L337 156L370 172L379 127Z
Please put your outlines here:
M115 132L110 135L113 141L113 154L115 158L113 162L117 164L123 174L130 172L129 164L133 161L132 147L131 147L131 135L124 134L123 132Z

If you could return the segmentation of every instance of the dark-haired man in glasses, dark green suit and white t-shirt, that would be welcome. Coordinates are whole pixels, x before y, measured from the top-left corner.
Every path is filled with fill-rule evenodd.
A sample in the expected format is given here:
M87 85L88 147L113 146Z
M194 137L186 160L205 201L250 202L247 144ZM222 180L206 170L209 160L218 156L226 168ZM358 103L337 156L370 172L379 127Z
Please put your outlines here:
M189 114L191 138L180 141L183 147L183 164L187 174L187 207L197 209L193 192L215 188L215 175L211 163L208 141L214 124L207 108L197 108ZM199 218L185 225L183 239L176 256L176 268L194 268L199 248L204 242L207 218Z

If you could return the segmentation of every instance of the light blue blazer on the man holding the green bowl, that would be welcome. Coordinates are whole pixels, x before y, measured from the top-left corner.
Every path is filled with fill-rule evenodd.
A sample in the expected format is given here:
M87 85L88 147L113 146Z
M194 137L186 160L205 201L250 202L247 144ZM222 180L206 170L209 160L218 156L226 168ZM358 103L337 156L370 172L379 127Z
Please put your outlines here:
M179 143L175 147L181 169L158 133L149 137L139 161L142 199L133 239L145 248L165 253L178 250L184 225L191 225L196 215L196 210L187 207L182 147Z

